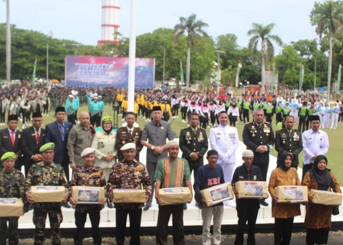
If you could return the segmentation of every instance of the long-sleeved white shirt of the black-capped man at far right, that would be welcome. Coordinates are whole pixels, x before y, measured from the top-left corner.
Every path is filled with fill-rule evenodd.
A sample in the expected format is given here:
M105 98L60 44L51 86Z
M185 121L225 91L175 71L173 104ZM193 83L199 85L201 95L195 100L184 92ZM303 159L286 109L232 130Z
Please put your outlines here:
M309 129L302 133L302 147L304 164L314 163L314 160L312 160L314 155L326 155L329 149L329 138L320 129L317 133Z

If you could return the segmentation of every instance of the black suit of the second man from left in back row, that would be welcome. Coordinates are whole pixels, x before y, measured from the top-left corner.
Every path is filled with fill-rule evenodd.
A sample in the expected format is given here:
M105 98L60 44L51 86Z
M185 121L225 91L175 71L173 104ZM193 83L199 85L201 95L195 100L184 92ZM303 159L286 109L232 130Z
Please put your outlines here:
M28 127L22 133L22 151L23 151L23 164L25 166L25 176L27 175L30 167L36 162L31 160L34 154L40 154L39 148L44 145L45 129L40 129L39 143L36 142L36 128Z

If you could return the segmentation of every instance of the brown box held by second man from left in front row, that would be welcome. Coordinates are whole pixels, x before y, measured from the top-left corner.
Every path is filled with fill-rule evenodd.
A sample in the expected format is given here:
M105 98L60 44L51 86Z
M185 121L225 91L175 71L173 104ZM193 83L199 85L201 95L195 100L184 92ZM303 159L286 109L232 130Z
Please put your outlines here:
M35 202L61 202L65 191L64 186L31 186L31 196Z

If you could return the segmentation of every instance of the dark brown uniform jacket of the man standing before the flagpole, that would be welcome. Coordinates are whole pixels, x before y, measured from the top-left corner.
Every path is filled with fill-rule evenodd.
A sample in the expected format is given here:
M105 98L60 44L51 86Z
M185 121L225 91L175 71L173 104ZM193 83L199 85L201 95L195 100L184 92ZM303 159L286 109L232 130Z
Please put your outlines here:
M117 130L117 137L115 143L115 150L117 152L117 159L119 162L123 161L124 157L120 150L127 143L134 143L136 145L136 156L135 159L139 161L139 153L143 146L141 144L142 130L139 127L133 127L132 133L130 134L127 127L121 127Z

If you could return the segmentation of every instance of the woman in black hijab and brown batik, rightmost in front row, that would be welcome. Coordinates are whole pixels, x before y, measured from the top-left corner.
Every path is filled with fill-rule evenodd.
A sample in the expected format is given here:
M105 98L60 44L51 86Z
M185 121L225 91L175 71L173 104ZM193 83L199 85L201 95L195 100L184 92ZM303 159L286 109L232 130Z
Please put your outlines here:
M341 193L340 184L327 167L324 155L318 155L312 170L305 174L303 185L308 187L309 202L306 205L304 226L306 227L306 244L327 244L331 228L332 206L312 202L311 189Z

